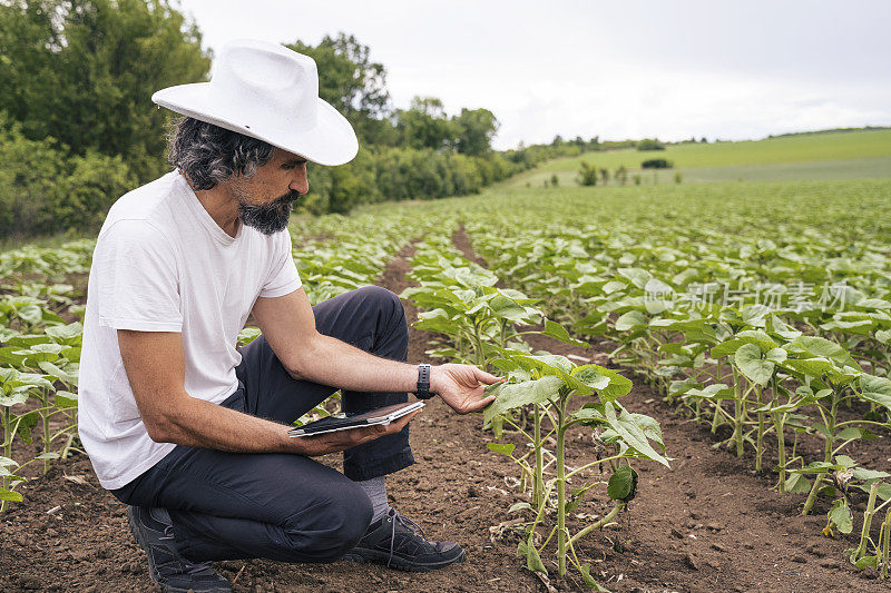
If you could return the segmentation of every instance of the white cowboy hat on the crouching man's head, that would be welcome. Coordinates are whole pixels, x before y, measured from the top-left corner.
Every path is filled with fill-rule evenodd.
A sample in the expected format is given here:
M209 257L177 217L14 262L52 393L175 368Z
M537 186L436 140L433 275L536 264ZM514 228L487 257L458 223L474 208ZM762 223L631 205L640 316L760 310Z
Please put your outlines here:
M151 100L319 165L343 165L359 151L353 127L319 98L315 61L277 43L227 43L209 82L169 87Z

